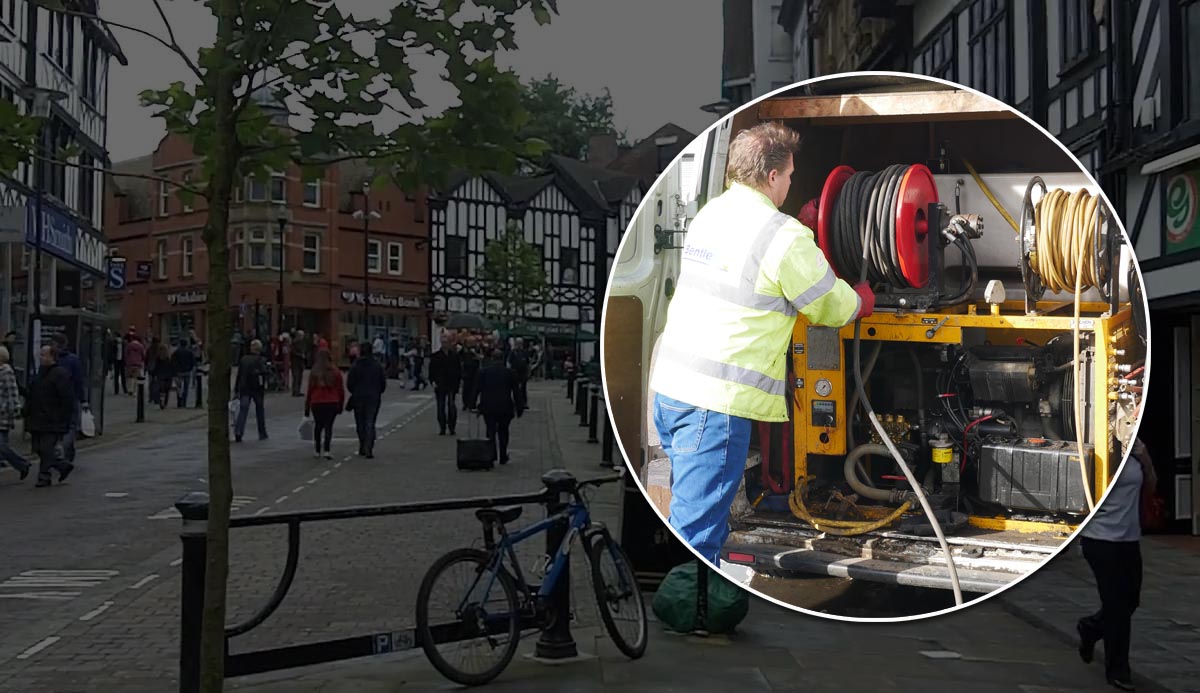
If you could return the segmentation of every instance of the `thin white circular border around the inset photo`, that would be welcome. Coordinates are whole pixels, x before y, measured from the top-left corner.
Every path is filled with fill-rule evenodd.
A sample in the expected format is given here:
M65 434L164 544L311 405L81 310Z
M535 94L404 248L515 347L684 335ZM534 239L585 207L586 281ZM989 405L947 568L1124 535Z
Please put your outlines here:
M1013 108L1012 106L1004 103L1003 101L1000 101L998 98L996 98L996 97L994 97L991 95L984 94L984 92L982 92L982 91L979 91L977 89L971 89L970 86L965 86L962 84L958 84L958 83L949 82L949 80L946 80L946 79L940 79L940 78L936 78L936 77L928 77L928 76L924 76L924 74L914 74L914 73L910 73L910 72L884 72L884 71L839 72L836 74L826 74L826 76L822 76L822 77L815 77L815 78L811 78L811 79L805 79L803 82L797 82L797 83L790 84L787 86L784 86L781 89L776 89L776 90L774 90L774 91L772 91L769 94L766 94L763 96L760 96L758 98L755 98L754 101L750 101L750 102L748 102L748 103L738 107L737 109L734 109L734 110L725 114L722 117L719 117L716 120L716 122L714 122L713 125L708 126L707 128L704 128L703 132L701 132L700 134L697 134L696 138L692 141L695 141L696 139L700 139L702 137L707 137L710 131L715 129L718 126L720 126L727 119L732 119L734 115L737 115L742 110L745 110L746 108L749 108L751 106L755 106L758 102L762 102L762 101L766 101L768 98L772 98L772 97L774 97L778 94L787 92L787 91L791 91L791 90L797 89L799 86L805 86L808 84L815 84L815 83L818 83L818 82L827 82L827 80L834 80L834 79L844 79L844 78L847 78L847 77L902 77L902 78L916 79L916 80L922 80L922 82L931 82L931 83L935 83L935 84L941 84L941 85L950 86L950 88L954 88L954 89L960 89L960 90L970 91L970 92L972 92L972 94L974 94L977 96L982 96L982 97L985 97L985 98L988 98L990 101L994 101L994 102L998 103L1000 106L1002 106L1004 109L1007 109L1007 110L1016 114L1021 119L1024 119L1025 122L1027 122L1028 125L1033 126L1038 132L1040 132L1043 135L1045 135L1045 138L1049 141L1051 141L1055 145L1057 145L1058 149L1061 149L1063 151L1063 153L1066 153L1070 158L1070 161L1075 162L1075 165L1079 167L1079 170L1085 176L1087 176L1087 180L1099 192L1100 198L1104 200L1104 204L1108 205L1109 210L1115 210L1115 207L1112 206L1112 200L1109 199L1108 193L1104 192L1104 188L1100 186L1099 181L1097 181L1096 177L1092 175L1092 173L1087 170L1087 168L1082 164L1082 162L1079 161L1079 157L1076 157L1075 153L1073 151L1070 151L1069 147L1067 147L1067 145L1062 144L1062 141L1060 141L1058 138L1056 138L1055 135L1050 134L1050 132L1046 131L1046 128L1042 127L1042 125L1039 125L1037 121L1034 121L1030 116L1025 115L1020 110ZM668 170L671 167L678 165L679 159L682 159L682 158L683 158L683 151L680 151L678 155L676 155L676 158L671 161L671 163L666 167L666 169L664 169L664 173L666 170ZM642 197L642 201L638 203L637 209L634 211L634 216L630 217L630 227L634 225L634 223L637 219L638 215L642 213L642 209L650 200L650 197L652 197L650 195L650 191L653 191L654 187L656 185L659 185L660 181L662 181L662 174L659 174L659 177L655 179L654 183L652 183L650 187L649 187L649 189L647 189L646 195ZM1145 380L1145 385L1144 385L1144 390L1142 390L1142 399L1141 399L1142 404L1141 404L1141 408L1138 411L1136 418L1134 421L1134 433L1133 433L1133 435L1136 438L1138 432L1141 429L1141 420L1145 416L1145 409L1146 409L1146 406L1145 406L1146 394L1147 394L1147 392L1150 390L1150 372L1151 372L1151 362L1150 361L1151 361L1151 352L1152 352L1151 351L1151 332L1153 332L1153 330L1151 330L1151 323L1150 323L1150 297L1147 296L1147 293L1146 293L1146 281L1145 281L1145 277L1141 273L1141 263L1138 261L1136 248L1133 246L1133 242L1129 239L1129 234L1126 231L1124 222L1121 219L1120 215L1116 213L1116 211L1112 211L1112 219L1116 222L1117 228L1121 230L1121 235L1124 237L1126 245L1129 246L1129 249L1130 249L1130 253L1132 253L1132 258L1133 258L1134 271L1138 273L1138 282L1139 282L1139 284L1141 285L1141 289L1142 289L1142 291L1141 291L1142 307L1144 307L1144 309L1146 312L1146 317L1147 317L1147 320L1146 320L1146 366L1145 366L1146 380ZM625 229L623 229L620 243L618 243L618 246L617 246L617 252L614 254L613 265L612 265L613 269L612 269L612 272L610 272L610 275L608 275L608 282L605 285L604 308L600 312L600 382L601 382L601 387L604 387L605 409L608 412L610 421L613 421L613 415L612 415L612 398L608 396L608 379L605 375L605 367L604 367L604 363L605 363L605 358L604 358L604 354L605 354L605 333L607 331L605 329L605 326L607 325L608 294L612 290L613 276L617 272L617 261L618 261L617 259L620 258L620 249L624 247L625 241L629 237L629 233L628 231L629 231L629 227L626 227ZM654 507L654 502L650 501L649 493L647 493L646 488L642 486L642 480L640 480L637 477L637 475L634 474L634 465L630 464L630 462L629 462L629 454L626 454L626 452L625 452L625 446L624 446L624 444L620 440L620 434L617 432L617 427L613 427L613 438L617 441L617 448L620 451L620 457L625 460L626 472L629 474L629 476L632 477L634 483L637 484L637 489L640 492L642 492L642 498L644 498L646 502L649 504L649 506L654 510L654 514L656 514L659 517L660 522L667 528L667 530L671 531L672 535L674 535L674 537L679 541L679 543L682 543L688 550L690 550L692 554L696 555L696 559L703 561L708 566L712 566L715 571L722 572L719 566L714 566L713 564L708 562L703 556L701 556L700 552L697 552L695 548L692 548L691 544L689 544L686 541L684 541L684 538L682 536L679 536L679 532L673 526L671 526L671 523L668 523L667 519L664 518L659 513L658 508ZM1132 448L1133 448L1133 446L1130 445L1129 450L1132 450ZM1117 476L1121 475L1121 471L1124 469L1126 463L1129 460L1129 450L1126 451L1126 454L1121 459L1121 464L1117 465L1117 470L1112 475L1114 480ZM1111 486L1112 484L1110 482L1109 488L1104 490L1104 495L1100 498L1099 501L1097 501L1096 507L1099 507L1100 504L1103 504L1104 500L1108 498L1109 490L1111 490ZM908 621L919 621L919 620L923 620L923 619L931 619L934 616L942 616L942 615L946 615L946 614L952 614L954 611L965 609L967 607L973 607L973 605L980 604L980 603L983 603L983 602L985 602L985 601L988 601L988 599L990 599L990 598L992 598L995 596L1001 595L1002 592L1009 590L1010 587L1020 584L1026 578L1036 574L1038 571L1040 571L1042 568L1044 568L1048 562L1050 562L1051 560L1054 560L1055 558L1057 558L1058 554L1061 554L1068 546L1070 546L1070 542L1073 542L1079 536L1080 530L1082 530L1087 525L1087 523L1092 520L1092 517L1094 517L1094 516L1096 516L1096 511L1093 510L1091 513L1088 513L1088 516L1084 519L1084 522L1081 522L1079 524L1079 526L1075 529L1075 531L1069 537L1067 537L1066 540L1063 540L1062 546L1060 546L1057 550L1055 550L1052 554L1050 554L1045 560L1043 560L1038 565L1038 567L1033 568L1028 573L1018 577L1016 579L1014 579L1013 581L1008 583L1003 587L1000 587L998 590L994 590L991 592L988 592L986 595L983 595L982 597L979 597L977 599L973 599L971 602L966 602L962 605L955 605L955 607L950 607L950 608L947 608L947 609L941 609L938 611L929 611L926 614L917 614L917 615L912 615L912 616L892 616L892 617L858 617L858 616L842 616L842 615L838 615L838 614L826 614L826 613L821 613L821 611L814 611L811 609L805 609L803 607L797 607L797 605L790 604L787 602L782 602L780 599L776 599L775 597L772 597L769 595L766 595L766 593L763 593L763 592L761 592L761 591L751 587L749 584L742 584L742 583L739 583L737 580L733 580L732 578L724 576L724 573L722 573L722 579L727 579L731 583L736 584L738 587L740 587L743 590L746 590L748 592L755 595L756 597L760 597L762 599L772 602L772 603L774 603L774 604L776 604L779 607L784 607L784 608L791 609L793 611L798 611L798 613L802 613L802 614L808 614L810 616L817 616L817 617L821 617L821 619L829 619L829 620L834 620L834 621L856 622L856 623L900 623L900 622L908 622Z

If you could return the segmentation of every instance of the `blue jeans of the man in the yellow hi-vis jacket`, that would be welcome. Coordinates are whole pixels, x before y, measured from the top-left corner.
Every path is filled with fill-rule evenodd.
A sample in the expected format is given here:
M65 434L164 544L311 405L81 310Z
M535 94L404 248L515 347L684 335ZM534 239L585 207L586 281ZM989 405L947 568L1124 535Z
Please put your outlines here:
M654 426L671 458L671 526L716 565L750 453L751 421L655 394Z

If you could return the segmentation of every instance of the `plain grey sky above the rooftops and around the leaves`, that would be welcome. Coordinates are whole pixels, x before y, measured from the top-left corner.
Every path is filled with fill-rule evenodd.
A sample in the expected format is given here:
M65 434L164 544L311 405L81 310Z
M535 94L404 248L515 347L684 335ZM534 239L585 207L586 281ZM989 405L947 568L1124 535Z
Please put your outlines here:
M385 10L392 1L344 4ZM216 24L200 2L163 6L181 43L192 50L211 44ZM720 97L720 0L559 0L558 7L548 26L522 18L520 50L502 54L500 64L524 78L553 73L580 91L599 94L607 86L617 127L634 140L666 122L697 133L713 122L698 107ZM150 0L107 0L101 16L163 34ZM127 67L113 62L108 94L108 149L114 161L122 161L151 152L164 133L161 121L138 104L138 92L186 82L188 73L155 41L113 31L130 60Z

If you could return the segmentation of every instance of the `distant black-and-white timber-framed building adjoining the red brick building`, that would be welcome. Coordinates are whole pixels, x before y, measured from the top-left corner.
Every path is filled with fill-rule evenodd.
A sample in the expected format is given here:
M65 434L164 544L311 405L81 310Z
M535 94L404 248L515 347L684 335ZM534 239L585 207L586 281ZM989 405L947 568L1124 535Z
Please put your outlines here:
M526 307L527 327L569 341L576 330L598 333L608 271L643 189L637 177L559 156L533 177L454 176L445 192L430 197L434 314L500 313L482 278L484 258L487 243L515 222L541 254L550 288L544 302ZM580 357L589 361L596 351L584 342Z

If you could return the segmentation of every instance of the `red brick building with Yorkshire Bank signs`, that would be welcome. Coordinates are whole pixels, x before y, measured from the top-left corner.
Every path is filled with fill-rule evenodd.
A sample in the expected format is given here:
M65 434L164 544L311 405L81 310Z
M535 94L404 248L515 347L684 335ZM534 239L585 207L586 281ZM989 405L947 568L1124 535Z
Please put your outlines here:
M178 135L154 153L115 165L179 181L198 177L200 158ZM370 252L364 253L364 206L368 171L353 163L330 165L306 180L299 168L270 180L247 180L236 192L229 219L230 302L242 333L277 333L282 277L286 329L301 327L344 345L364 332L364 260L370 265L370 323L402 341L428 332L430 224L424 193L394 186L372 189ZM104 225L110 254L126 260L126 287L110 291L122 329L164 339L194 329L205 333L209 257L202 237L205 203L185 203L160 181L119 176L107 186ZM284 218L280 241L280 218ZM282 245L282 252L281 252ZM282 255L282 271L280 260ZM257 321L256 321L257 317Z

